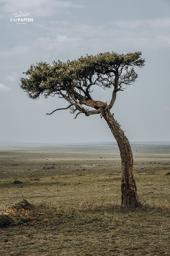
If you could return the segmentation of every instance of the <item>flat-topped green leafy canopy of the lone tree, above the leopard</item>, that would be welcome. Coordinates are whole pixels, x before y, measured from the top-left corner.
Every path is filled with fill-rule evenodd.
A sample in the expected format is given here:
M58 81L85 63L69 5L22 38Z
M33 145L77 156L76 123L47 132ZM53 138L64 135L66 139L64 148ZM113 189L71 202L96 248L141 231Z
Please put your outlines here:
M29 78L22 77L20 87L33 99L57 94L69 102L78 100L82 104L90 98L92 85L120 91L123 84L134 83L137 78L134 67L143 67L144 62L141 52L126 55L105 52L67 62L54 61L53 66L40 62L24 72Z

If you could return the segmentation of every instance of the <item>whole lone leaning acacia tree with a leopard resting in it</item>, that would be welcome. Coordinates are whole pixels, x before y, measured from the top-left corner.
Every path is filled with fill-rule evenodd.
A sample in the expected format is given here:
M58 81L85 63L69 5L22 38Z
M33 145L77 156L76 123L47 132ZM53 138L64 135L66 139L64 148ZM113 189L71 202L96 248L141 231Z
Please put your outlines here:
M128 208L141 205L133 174L133 155L129 140L110 110L115 103L117 92L123 91L127 85L136 81L137 73L134 67L143 67L144 62L141 52L126 55L105 52L96 56L87 55L73 61L54 61L52 66L46 62L36 63L24 72L29 78L20 79L20 87L29 98L38 99L40 96L48 98L58 95L69 103L68 107L55 109L52 113L69 108L70 113L76 114L74 118L84 113L85 116L100 114L106 120L120 149L122 207ZM93 101L94 85L103 89L112 88L112 98L108 105ZM87 103L89 100L94 104ZM87 106L92 106L94 110L90 110Z

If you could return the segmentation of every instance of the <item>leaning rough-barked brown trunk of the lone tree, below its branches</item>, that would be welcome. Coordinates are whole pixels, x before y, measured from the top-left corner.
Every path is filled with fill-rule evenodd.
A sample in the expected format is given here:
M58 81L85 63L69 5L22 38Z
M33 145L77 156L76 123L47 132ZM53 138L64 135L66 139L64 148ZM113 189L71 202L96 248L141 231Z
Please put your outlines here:
M122 163L122 208L135 208L141 206L137 196L137 187L133 175L133 155L128 138L120 128L120 124L115 120L108 108L103 109L102 115L105 118L110 130L117 141Z

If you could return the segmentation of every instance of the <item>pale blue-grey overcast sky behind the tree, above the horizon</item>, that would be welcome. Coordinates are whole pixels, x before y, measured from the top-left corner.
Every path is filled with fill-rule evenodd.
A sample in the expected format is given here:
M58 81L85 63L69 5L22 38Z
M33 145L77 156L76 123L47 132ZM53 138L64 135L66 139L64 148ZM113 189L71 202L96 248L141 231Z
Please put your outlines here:
M0 140L115 141L100 115L77 119L56 97L31 100L20 77L31 64L66 61L99 52L142 52L135 85L117 93L111 109L129 141L170 140L169 0L0 0ZM33 21L13 20L21 11ZM19 16L19 15L18 15ZM16 17L15 17L16 18ZM26 23L26 24L17 24ZM94 100L110 102L101 88Z

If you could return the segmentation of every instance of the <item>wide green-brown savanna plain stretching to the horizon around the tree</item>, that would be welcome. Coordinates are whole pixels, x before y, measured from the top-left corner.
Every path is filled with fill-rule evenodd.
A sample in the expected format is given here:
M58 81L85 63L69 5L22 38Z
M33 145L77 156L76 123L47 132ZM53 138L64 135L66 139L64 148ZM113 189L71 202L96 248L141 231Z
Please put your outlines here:
M0 147L0 255L170 255L170 146L132 151L122 209L115 144Z

